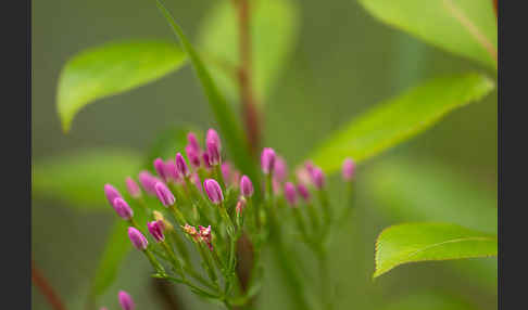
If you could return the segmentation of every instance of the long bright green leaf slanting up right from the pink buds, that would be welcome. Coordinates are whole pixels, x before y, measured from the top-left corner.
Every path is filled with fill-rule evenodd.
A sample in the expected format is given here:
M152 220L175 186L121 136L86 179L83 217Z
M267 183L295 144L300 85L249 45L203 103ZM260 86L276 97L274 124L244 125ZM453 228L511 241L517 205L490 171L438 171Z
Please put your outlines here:
M479 74L435 78L353 119L309 158L327 172L338 170L345 157L365 160L426 130L453 109L482 99L493 87Z

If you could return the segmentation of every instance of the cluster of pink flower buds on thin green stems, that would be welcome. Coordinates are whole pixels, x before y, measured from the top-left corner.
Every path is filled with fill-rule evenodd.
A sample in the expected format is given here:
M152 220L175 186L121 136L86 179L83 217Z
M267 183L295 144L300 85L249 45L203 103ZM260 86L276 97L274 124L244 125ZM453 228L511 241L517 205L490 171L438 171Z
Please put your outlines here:
M231 281L236 240L244 230L259 233L261 223L265 227L269 222L266 208L275 203L286 202L292 207L284 209L293 210L304 235L307 230L303 217L306 216L302 216L301 209L306 209L311 227L323 227L324 221L329 223L331 215L325 175L313 163L306 162L289 176L286 160L273 148L265 147L261 154L264 183L254 186L247 175L223 160L222 143L215 130L208 130L203 148L194 133L188 133L187 139L185 152L176 153L171 159L154 159L155 173L143 170L137 181L126 178L129 203L136 212L113 185L104 185L110 205L129 222L131 244L146 254L158 276L166 276L164 264L171 264L171 270L181 277L180 283L187 283L189 276L206 283L199 272L193 271L188 254L188 247L193 244L210 276L210 287L218 287L217 272L225 272L224 276ZM342 168L343 180L353 180L354 170L354 162L347 158ZM255 198L259 196L255 192L265 194ZM320 211L315 208L312 195L319 197ZM303 205L306 207L301 208ZM151 244L149 238L153 241ZM192 287L196 289L196 285ZM126 301L123 297L123 300L122 305L131 305L126 309L134 309L131 299Z

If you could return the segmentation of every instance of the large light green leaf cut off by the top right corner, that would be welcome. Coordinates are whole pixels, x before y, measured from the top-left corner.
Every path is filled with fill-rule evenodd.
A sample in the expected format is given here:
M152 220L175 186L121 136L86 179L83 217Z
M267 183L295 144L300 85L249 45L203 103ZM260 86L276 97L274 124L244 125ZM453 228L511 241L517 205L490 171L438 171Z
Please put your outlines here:
M375 17L496 69L496 20L485 0L360 0Z

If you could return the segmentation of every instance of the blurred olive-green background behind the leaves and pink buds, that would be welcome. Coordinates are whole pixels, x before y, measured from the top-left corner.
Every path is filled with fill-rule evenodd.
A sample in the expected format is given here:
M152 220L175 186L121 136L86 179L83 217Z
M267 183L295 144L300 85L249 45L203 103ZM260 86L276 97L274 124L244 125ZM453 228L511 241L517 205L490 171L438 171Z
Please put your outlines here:
M196 38L203 16L217 1L172 0L167 7L188 36ZM264 125L265 144L290 163L302 159L353 116L424 79L468 69L494 75L379 23L354 0L294 2L301 17L299 38L266 100ZM55 95L64 63L86 48L128 38L173 38L153 1L33 2L34 163L101 146L144 152L155 134L169 126L214 126L201 88L186 65L156 82L88 105L76 117L71 132L62 132ZM442 189L456 192L463 188L472 191L472 197L491 201L487 207L496 208L496 144L493 91L483 101L450 114L432 129L361 166L357 214L339 236L332 255L338 309L496 308L494 258L403 266L373 282L377 234L389 224L423 218L405 217L395 202L391 208L395 211L387 211L378 205L390 204L392 198L380 197L373 186L362 183L362 179L376 182L385 171L382 165L392 160L415 164L405 167L416 166L417 173L420 165L429 165L436 167L430 171L449 171L462 186L432 188L424 192L424 202L440 206L455 203L462 209L465 194L449 196ZM330 180L335 188L339 188L337 177ZM428 180L433 182L436 177L429 175ZM412 190L418 194L423 191ZM337 190L336 197L339 195ZM33 257L68 309L84 309L89 281L114 218L112 212L83 212L34 197ZM142 257L129 255L124 272L100 298L100 305L118 309L116 294L123 288L135 297L139 309L163 309L156 303L149 270ZM272 285L280 277L273 266L268 271L261 309L287 309L288 298L280 284ZM176 292L185 309L216 309L184 289ZM50 309L35 288L33 305L34 309Z

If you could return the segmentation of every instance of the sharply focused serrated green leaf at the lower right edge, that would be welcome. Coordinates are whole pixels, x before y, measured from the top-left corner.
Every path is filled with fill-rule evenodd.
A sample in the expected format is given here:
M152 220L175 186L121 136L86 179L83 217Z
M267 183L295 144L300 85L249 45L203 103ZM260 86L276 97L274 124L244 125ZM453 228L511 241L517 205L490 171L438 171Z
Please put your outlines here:
M496 235L451 223L404 223L384 230L376 241L379 276L402 263L496 256Z

